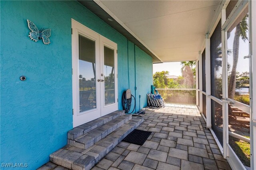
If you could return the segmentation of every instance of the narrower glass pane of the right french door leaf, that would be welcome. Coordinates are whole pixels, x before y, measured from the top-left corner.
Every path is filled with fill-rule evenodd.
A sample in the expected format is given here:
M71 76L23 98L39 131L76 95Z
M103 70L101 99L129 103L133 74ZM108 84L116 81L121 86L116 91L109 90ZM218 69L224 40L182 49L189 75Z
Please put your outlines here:
M115 103L114 49L104 46L104 94L105 106Z

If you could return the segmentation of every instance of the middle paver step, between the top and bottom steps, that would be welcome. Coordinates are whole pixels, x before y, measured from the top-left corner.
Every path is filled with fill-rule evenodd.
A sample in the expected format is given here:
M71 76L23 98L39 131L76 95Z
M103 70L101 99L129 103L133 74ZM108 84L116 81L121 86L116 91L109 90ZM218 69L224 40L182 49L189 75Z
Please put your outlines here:
M68 139L68 145L82 148L82 149L88 149L89 147L94 145L94 143L100 141L101 139L103 139L104 137L106 137L116 129L118 129L118 127L121 127L126 122L130 121L131 119L132 119L132 115L125 115L123 118L120 118L121 121L118 122L116 125L114 125L114 127L109 126L108 123L106 123L106 125L103 125L102 127L98 127L97 129L90 131L91 133L89 132L84 135L81 135L80 137L77 137L74 140ZM104 126L106 129L103 128ZM109 129L106 126L108 126Z

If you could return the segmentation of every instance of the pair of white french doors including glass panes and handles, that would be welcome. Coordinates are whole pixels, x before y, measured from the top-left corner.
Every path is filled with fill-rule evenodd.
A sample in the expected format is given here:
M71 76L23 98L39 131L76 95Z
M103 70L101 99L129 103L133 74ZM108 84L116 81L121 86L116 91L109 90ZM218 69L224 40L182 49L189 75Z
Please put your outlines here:
M73 127L116 111L117 45L72 20Z

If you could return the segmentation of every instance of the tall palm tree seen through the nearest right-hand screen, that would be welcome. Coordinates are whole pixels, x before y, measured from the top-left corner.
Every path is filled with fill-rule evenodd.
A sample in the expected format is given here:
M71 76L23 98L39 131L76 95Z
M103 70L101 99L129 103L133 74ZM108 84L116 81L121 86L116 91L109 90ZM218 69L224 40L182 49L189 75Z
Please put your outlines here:
M230 74L230 80L228 84L228 98L234 99L236 91L236 67L238 63L239 55L239 40L240 37L243 41L248 40L248 14L236 25L236 31L233 41L233 66Z

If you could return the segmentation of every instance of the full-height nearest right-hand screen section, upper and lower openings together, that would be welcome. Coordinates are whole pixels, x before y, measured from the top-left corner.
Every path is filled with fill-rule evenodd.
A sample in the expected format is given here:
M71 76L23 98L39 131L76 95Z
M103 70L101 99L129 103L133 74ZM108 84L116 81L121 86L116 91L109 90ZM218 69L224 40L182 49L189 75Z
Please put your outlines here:
M228 144L244 166L250 167L250 105L248 7L227 32Z

